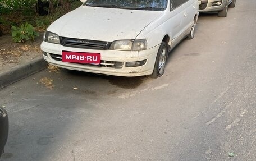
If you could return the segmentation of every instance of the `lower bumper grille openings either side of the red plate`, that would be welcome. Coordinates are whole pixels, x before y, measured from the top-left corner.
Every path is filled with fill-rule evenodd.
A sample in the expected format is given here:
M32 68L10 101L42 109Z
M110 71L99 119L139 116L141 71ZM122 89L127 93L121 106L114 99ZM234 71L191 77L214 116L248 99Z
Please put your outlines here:
M50 56L55 61L62 61L62 56L61 55L50 53ZM115 68L115 69L121 69L124 65L124 62L103 61L103 60L101 60L99 65L88 64L88 63L78 63L78 64L86 65L86 66L111 67L111 68Z

